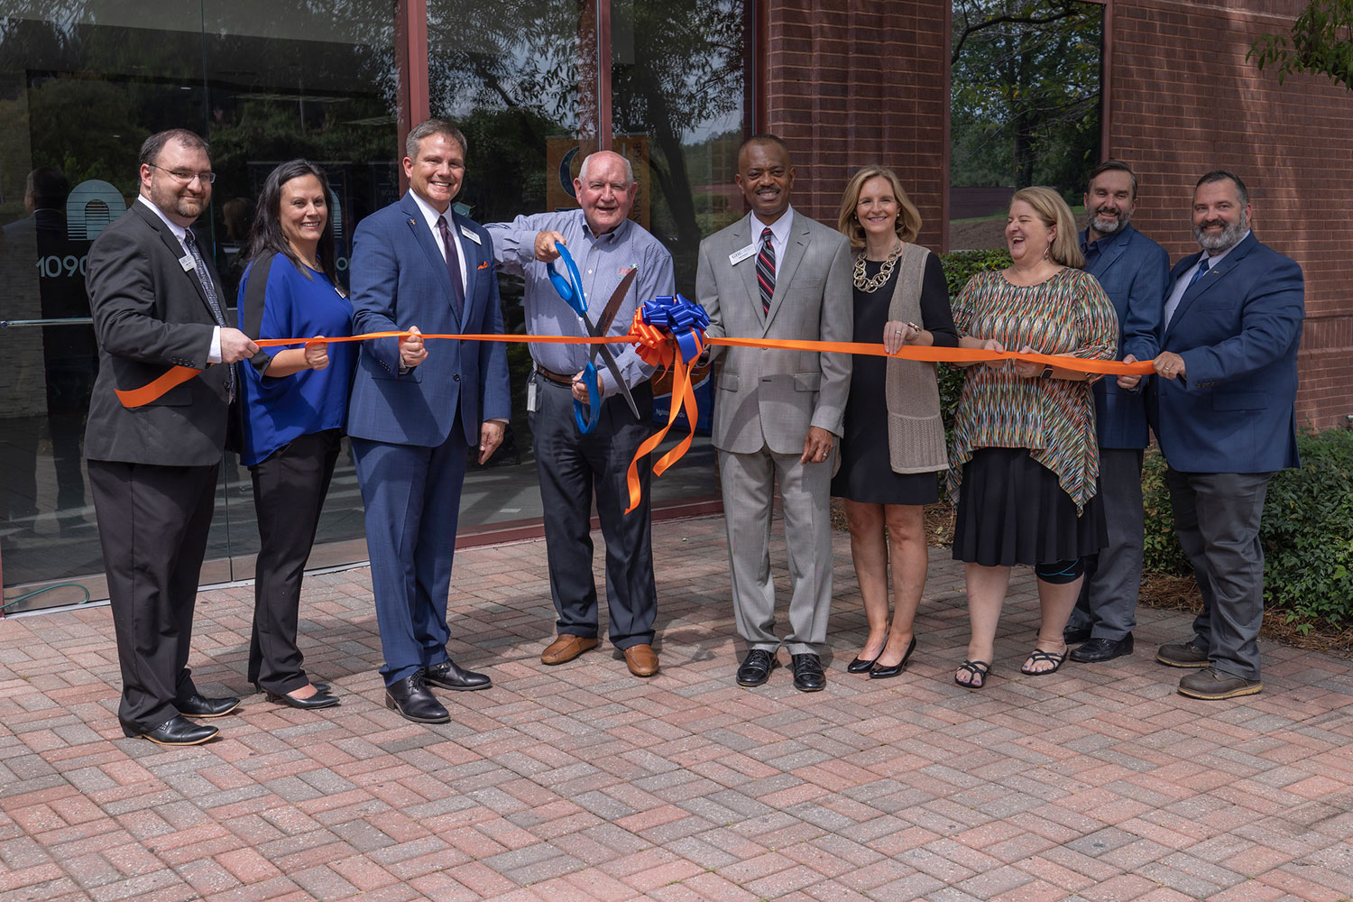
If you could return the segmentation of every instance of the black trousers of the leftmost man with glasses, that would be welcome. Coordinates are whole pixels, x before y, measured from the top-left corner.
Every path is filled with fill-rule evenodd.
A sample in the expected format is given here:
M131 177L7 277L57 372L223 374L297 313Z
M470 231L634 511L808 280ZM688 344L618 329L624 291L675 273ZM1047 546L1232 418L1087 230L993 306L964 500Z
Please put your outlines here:
M118 719L134 733L198 691L188 645L219 469L88 461L122 667Z

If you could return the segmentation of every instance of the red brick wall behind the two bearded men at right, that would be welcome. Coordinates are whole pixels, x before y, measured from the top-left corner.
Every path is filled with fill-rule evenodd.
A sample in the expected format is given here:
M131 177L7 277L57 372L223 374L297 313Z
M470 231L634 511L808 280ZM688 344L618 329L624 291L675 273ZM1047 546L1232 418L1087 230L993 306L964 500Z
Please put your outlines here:
M1193 253L1189 201L1210 169L1245 180L1254 234L1306 272L1298 417L1353 414L1353 93L1329 78L1279 85L1245 61L1256 37L1287 31L1299 3L1114 0L1109 153L1142 180L1134 222Z

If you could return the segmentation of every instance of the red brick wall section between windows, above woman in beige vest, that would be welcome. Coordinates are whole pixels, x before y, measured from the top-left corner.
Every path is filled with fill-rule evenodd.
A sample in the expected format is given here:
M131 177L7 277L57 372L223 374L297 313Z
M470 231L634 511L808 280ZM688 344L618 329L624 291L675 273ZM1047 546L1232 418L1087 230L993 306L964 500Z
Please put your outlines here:
M861 166L897 172L940 247L948 0L764 0L758 126L789 145L794 207L835 224Z

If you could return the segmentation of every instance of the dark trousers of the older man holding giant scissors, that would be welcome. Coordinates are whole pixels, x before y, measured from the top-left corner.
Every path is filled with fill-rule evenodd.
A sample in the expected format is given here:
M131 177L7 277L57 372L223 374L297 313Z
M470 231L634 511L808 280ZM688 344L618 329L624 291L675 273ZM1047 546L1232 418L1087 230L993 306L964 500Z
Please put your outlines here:
M609 373L607 373L609 375ZM591 507L606 541L606 611L610 642L624 650L652 645L658 617L653 581L649 480L652 464L641 461L644 499L629 514L625 472L639 446L652 434L653 394L648 383L633 388L641 422L620 395L602 402L595 431L584 435L574 423L572 391L538 373L537 410L530 415L540 499L545 518L549 594L560 633L595 638L597 581L593 579Z

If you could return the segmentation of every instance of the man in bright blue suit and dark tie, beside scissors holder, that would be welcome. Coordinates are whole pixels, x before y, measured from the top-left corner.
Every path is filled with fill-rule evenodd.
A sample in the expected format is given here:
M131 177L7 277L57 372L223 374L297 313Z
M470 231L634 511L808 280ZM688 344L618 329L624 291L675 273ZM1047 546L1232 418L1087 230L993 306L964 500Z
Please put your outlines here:
M510 414L501 342L422 333L502 333L492 239L455 214L465 137L429 119L409 133L409 193L357 226L352 254L354 329L410 331L363 342L348 411L367 507L367 553L386 664L386 707L442 723L428 684L482 690L488 676L446 656L446 595L460 487L469 448L484 462Z

